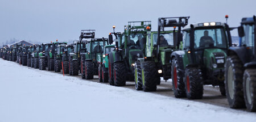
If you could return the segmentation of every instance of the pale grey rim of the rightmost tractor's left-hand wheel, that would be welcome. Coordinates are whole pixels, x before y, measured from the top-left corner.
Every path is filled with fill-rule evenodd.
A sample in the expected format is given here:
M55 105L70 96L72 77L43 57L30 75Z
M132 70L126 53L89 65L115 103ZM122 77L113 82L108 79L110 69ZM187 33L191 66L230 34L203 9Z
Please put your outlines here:
M229 91L229 97L231 99L234 99L234 74L233 74L233 68L232 66L229 66L228 69L228 91Z

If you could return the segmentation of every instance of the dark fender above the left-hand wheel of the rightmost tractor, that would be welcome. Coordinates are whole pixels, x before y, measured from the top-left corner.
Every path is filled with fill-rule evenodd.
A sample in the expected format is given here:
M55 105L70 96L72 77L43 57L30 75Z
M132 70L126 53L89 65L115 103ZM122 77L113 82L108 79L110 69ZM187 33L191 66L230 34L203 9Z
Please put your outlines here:
M246 47L230 47L228 49L228 56L231 56L233 54L236 54L243 64L250 61L250 57L247 56L249 54L249 51L246 49Z

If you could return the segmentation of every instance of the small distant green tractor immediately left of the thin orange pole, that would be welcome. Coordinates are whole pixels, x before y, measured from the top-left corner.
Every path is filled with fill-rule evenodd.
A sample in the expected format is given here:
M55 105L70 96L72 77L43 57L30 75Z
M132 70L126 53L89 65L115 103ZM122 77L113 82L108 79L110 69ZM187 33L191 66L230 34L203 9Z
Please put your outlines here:
M67 44L60 44L57 46L57 53L55 54L55 65L54 65L54 71L60 72L62 69L62 58L63 54L65 53L64 49L66 48Z

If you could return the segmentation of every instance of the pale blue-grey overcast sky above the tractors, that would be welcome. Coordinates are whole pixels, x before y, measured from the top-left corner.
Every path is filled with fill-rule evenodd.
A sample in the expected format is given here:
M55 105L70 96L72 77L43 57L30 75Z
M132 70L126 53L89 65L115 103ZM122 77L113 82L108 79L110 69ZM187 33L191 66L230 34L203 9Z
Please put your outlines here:
M113 25L123 32L128 21L151 20L156 30L159 17L191 16L189 23L225 22L226 14L229 26L237 27L243 17L256 15L256 1L0 0L0 42L77 40L83 29L108 37Z

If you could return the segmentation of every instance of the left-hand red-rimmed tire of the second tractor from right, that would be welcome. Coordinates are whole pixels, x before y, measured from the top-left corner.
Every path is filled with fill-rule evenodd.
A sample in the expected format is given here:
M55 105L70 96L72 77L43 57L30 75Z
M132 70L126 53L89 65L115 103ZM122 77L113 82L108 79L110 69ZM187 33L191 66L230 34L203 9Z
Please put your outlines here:
M176 58L172 59L172 89L174 90L175 98L186 97L185 83L183 81L183 72L181 65Z

